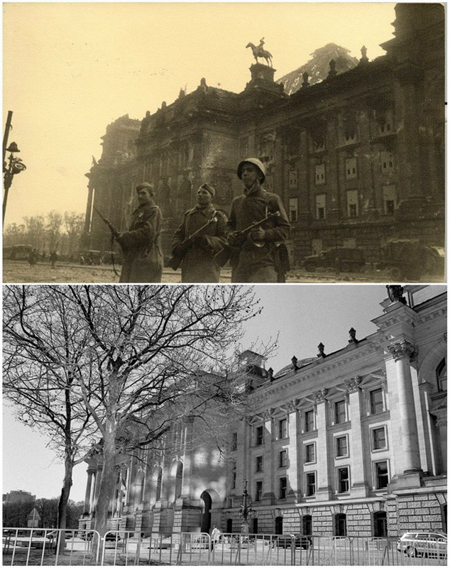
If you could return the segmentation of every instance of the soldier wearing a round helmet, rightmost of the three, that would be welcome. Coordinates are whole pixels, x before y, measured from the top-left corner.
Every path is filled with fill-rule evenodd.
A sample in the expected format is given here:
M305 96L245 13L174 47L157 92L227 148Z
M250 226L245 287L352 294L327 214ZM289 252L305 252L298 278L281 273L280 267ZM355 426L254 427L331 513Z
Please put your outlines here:
M265 283L283 281L279 247L289 237L290 224L280 197L267 192L262 184L265 167L258 158L246 158L238 165L238 178L243 181L243 194L231 203L227 240L234 250L231 258L234 283ZM260 222L266 222L242 236L240 231Z

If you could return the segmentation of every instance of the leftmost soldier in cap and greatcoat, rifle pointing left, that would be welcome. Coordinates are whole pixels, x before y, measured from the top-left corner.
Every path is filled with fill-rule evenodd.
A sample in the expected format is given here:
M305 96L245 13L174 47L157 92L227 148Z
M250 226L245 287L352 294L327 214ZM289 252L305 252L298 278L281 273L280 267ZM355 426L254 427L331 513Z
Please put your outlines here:
M133 212L128 231L116 236L124 253L119 282L160 282L163 274L163 250L160 232L163 215L153 200L153 185L143 182L136 187L139 207Z

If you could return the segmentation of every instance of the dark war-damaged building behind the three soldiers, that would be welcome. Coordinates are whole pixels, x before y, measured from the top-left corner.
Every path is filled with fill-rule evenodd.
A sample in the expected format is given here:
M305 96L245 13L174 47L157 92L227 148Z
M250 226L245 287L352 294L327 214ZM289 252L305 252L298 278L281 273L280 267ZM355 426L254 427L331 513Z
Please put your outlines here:
M342 67L336 52L321 82L305 72L297 89L295 72L287 75L290 96L272 67L256 63L238 94L202 79L142 121L124 116L110 124L87 173L89 247L111 247L92 204L124 229L136 207L134 187L147 180L163 209L170 253L197 187L215 185L217 207L228 213L241 192L236 165L249 155L263 160L265 187L289 212L292 266L342 246L361 246L378 263L390 239L443 247L444 6L402 3L395 14L394 37L381 44L386 55L369 61L362 48L350 68L354 62Z

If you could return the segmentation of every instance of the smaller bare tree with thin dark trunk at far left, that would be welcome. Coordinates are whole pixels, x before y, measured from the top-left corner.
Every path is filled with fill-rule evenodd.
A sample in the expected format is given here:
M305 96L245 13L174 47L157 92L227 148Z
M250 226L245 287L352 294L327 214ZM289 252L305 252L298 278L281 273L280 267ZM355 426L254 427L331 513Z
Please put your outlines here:
M83 355L89 334L55 288L45 286L6 286L3 324L4 396L17 419L47 436L64 461L58 526L65 528L72 470L92 452L97 430L73 388L77 373L89 373Z

